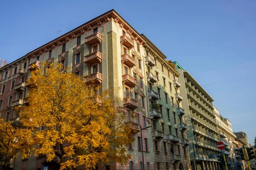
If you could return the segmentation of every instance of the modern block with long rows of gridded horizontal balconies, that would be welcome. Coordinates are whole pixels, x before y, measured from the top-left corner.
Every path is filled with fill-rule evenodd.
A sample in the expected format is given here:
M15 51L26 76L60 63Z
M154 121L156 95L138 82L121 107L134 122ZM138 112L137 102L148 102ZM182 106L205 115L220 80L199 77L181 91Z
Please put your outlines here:
M213 99L188 71L177 62L174 63L180 74L178 80L188 128L191 165L195 169L196 164L198 170L217 170L217 156L221 154L221 150L216 145L219 132Z

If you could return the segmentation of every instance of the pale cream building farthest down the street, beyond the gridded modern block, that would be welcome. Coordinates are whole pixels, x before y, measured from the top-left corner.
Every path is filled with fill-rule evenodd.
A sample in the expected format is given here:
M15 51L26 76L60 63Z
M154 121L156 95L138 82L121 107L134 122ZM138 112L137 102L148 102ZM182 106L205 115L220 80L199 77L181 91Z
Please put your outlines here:
M246 162L236 158L235 150L238 142L235 140L236 135L233 133L231 122L227 118L222 117L215 106L213 107L218 123L219 141L225 145L222 151L225 153L227 167L229 170L244 170Z

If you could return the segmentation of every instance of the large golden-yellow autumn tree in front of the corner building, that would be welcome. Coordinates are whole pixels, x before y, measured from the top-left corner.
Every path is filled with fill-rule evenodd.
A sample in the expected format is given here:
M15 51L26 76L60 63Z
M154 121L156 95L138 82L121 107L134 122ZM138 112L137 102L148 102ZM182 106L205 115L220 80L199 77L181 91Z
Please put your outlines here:
M20 129L18 142L23 159L46 154L47 161L59 160L61 170L109 161L126 164L133 129L113 91L61 73L61 65L44 65L31 72L29 105L19 113L26 127Z

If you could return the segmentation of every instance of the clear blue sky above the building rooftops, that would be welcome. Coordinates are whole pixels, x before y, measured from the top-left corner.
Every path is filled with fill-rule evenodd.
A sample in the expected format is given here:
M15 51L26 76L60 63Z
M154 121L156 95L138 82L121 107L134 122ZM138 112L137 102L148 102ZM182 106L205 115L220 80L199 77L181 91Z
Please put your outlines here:
M161 3L160 3L161 2ZM215 100L234 131L256 136L256 1L3 1L0 58L9 62L114 8Z

